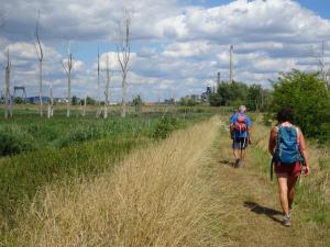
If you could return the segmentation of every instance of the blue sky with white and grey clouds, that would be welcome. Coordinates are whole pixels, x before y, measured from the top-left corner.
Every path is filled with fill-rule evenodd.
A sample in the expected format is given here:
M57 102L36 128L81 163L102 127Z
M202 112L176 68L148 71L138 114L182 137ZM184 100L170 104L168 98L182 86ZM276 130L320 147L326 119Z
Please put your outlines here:
M326 0L0 0L0 63L10 50L12 83L37 93L33 30L41 10L45 50L44 94L52 85L64 97L66 78L61 61L67 44L74 55L73 94L102 98L96 85L97 50L101 68L111 61L111 101L121 99L117 61L118 22L133 11L129 97L145 101L200 94L215 85L217 72L228 79L229 46L234 45L234 79L270 87L278 71L318 69L324 42L330 65L330 7ZM329 66L328 66L329 67ZM102 70L105 76L105 71ZM3 88L0 70L0 88Z

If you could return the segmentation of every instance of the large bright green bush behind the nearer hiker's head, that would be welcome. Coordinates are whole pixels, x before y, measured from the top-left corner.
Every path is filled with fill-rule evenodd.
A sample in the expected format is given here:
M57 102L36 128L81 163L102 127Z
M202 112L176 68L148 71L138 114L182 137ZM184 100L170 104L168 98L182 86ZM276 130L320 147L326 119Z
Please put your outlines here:
M282 74L274 83L273 110L292 108L295 122L309 137L330 138L330 97L318 74Z

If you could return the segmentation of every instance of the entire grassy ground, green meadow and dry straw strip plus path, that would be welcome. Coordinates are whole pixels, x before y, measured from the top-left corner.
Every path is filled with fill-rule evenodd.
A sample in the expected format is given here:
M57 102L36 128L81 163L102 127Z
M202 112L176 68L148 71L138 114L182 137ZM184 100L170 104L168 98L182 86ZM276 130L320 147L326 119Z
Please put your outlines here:
M253 232L260 216L238 194L279 209L262 114L249 113L249 167L233 170L228 109L131 109L127 119L117 110L107 120L94 110L69 119L62 110L47 120L21 109L0 120L1 138L33 144L0 158L3 246L276 246L271 233L285 237L278 246L330 243L326 146L308 142L311 176L297 186L292 232L266 216Z

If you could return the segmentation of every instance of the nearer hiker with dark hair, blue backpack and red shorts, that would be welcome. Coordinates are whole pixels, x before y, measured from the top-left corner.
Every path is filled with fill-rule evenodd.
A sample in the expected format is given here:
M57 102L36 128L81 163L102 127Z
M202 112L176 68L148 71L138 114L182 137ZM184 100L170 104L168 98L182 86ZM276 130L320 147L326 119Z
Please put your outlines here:
M294 113L283 108L277 113L277 125L271 131L268 150L273 156L277 177L283 224L292 225L292 209L295 198L295 184L304 171L309 175L308 157L302 132L293 125ZM302 165L302 168L301 168ZM273 166L272 166L273 169Z

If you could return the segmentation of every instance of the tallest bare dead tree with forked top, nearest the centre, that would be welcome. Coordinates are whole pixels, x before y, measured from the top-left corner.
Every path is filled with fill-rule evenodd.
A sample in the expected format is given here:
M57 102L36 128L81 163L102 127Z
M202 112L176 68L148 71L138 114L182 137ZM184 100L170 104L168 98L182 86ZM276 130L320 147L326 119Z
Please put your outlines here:
M131 54L130 45L130 27L132 22L132 13L129 10L123 11L123 20L119 23L119 42L117 44L117 56L122 70L122 113L121 116L127 116L127 77L129 70L129 61Z

